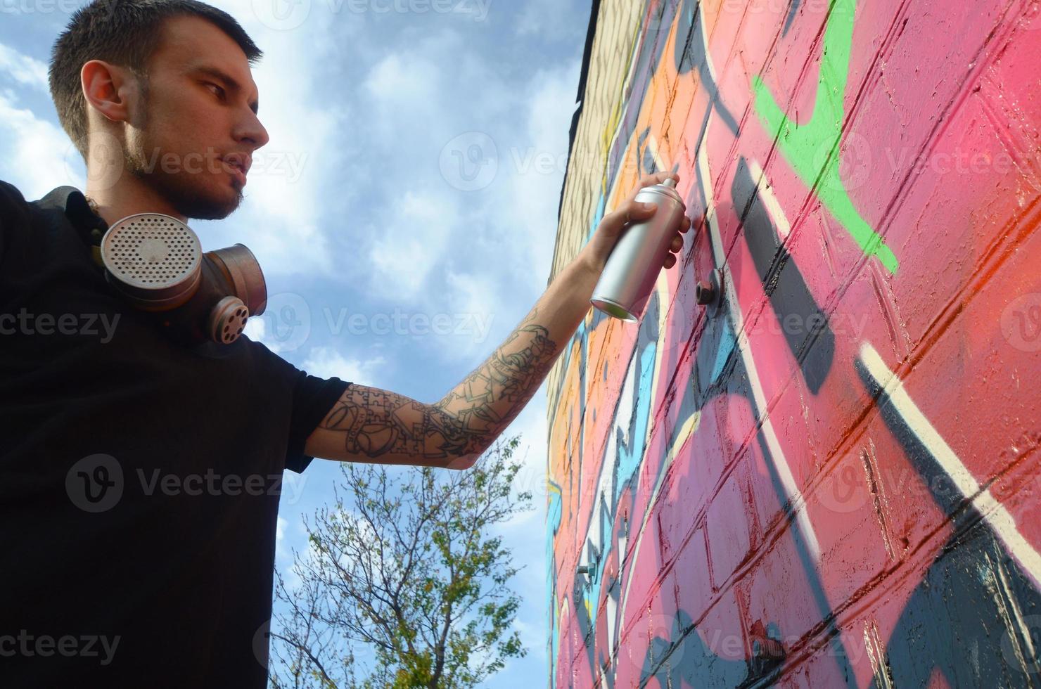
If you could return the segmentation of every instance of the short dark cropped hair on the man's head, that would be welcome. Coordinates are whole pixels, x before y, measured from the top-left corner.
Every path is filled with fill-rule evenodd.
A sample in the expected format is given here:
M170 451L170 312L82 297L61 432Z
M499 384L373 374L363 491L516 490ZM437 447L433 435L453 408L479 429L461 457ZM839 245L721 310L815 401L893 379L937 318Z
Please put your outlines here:
M250 62L263 54L228 12L198 0L94 0L72 16L51 51L51 98L58 122L86 158L86 99L79 84L83 65L103 59L148 78L148 61L163 20L199 17L227 33Z

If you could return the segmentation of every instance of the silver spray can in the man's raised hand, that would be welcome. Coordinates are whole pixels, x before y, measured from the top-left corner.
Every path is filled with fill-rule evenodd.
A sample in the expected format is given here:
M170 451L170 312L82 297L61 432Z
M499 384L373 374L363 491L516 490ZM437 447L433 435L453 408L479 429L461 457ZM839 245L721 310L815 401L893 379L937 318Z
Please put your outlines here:
M623 321L639 321L672 237L680 231L687 207L676 192L676 180L645 186L636 201L658 204L649 220L633 223L611 250L592 291L592 305Z

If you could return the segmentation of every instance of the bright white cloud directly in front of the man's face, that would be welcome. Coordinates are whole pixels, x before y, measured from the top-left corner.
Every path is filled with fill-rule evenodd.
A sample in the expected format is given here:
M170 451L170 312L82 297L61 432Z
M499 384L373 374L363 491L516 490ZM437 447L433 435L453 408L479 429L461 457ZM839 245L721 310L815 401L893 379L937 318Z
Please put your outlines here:
M206 225L215 240L248 245L268 275L331 276L336 264L329 235L340 228L324 222L324 210L328 199L349 199L351 189L342 183L349 105L347 99L330 99L328 84L316 77L334 47L330 26L319 21L318 6L301 26L280 31L260 21L250 0L217 4L264 51L253 78L271 139L254 156L242 209Z

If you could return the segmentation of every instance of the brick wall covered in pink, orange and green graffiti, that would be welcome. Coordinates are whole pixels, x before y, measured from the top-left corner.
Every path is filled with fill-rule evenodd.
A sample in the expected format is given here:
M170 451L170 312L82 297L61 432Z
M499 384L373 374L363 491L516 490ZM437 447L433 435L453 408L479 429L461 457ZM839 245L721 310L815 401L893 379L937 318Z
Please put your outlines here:
M594 12L555 270L694 227L550 378L550 686L1041 686L1041 4Z

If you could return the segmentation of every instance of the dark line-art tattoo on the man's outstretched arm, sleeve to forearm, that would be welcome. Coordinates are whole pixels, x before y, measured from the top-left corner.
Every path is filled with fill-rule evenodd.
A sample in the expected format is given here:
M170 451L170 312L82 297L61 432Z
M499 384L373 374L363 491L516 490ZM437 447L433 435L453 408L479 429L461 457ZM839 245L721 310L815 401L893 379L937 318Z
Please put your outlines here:
M377 458L397 453L447 459L483 452L535 394L557 357L533 308L484 363L443 400L425 405L352 385L320 428L346 433L346 449Z

